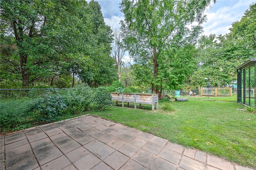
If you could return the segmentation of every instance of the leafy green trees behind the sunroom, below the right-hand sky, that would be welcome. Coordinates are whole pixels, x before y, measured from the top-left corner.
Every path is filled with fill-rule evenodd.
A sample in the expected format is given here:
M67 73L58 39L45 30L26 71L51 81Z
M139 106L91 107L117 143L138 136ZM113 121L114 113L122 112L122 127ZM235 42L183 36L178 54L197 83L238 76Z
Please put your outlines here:
M235 67L256 56L256 5L252 4L240 21L232 23L226 35L203 35L198 41L198 69L190 76L190 85L226 86L236 80Z

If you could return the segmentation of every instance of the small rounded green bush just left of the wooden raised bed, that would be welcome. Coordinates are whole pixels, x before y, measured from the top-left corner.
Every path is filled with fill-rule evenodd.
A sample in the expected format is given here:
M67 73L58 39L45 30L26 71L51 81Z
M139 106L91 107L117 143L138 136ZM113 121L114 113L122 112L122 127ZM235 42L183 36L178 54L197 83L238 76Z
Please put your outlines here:
M112 106L112 97L110 92L104 87L99 87L94 92L93 105L96 109L103 111Z

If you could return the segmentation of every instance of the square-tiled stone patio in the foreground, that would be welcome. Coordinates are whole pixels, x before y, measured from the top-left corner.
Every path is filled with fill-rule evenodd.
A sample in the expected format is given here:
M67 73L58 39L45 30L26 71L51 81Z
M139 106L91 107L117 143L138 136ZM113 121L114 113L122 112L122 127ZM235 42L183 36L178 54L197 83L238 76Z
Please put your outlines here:
M252 170L86 115L0 137L0 170Z

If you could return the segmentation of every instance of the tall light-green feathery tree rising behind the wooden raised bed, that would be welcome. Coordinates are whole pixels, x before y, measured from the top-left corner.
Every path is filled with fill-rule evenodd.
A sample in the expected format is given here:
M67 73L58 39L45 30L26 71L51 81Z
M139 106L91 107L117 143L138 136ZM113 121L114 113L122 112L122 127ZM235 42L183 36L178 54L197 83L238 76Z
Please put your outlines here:
M188 49L202 31L203 12L209 5L210 0L122 0L123 42L136 68L152 72L141 80L147 80L159 98L162 88L179 86L192 71L194 55ZM192 25L194 22L198 25ZM186 53L181 55L183 50Z

